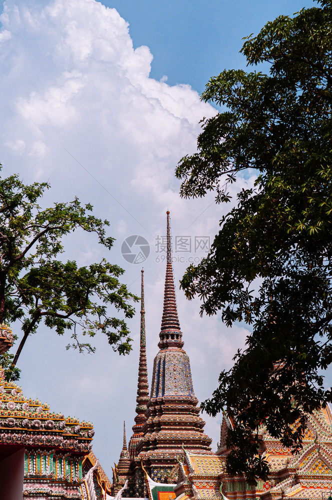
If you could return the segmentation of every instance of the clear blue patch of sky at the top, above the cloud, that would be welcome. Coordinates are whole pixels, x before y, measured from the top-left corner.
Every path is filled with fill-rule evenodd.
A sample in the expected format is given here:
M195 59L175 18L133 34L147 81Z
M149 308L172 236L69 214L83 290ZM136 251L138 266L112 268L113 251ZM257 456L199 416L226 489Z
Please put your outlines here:
M134 47L153 54L152 78L189 83L201 93L222 69L244 68L242 37L278 15L317 5L307 0L114 0L103 1L129 22Z

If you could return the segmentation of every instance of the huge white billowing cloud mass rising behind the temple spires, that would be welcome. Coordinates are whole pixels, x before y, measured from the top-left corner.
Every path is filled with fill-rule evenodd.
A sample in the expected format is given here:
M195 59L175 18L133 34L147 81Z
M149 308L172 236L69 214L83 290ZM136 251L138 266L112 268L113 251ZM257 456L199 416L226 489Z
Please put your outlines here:
M6 0L0 20L3 173L18 171L27 182L49 180L52 189L44 204L75 195L91 201L95 213L110 220L110 234L117 238L113 251L104 256L125 268L124 279L136 294L140 267L122 258L121 242L130 234L141 234L149 241L151 251L144 268L151 378L164 279L155 241L165 234L165 210L171 211L173 235L212 238L223 209L215 207L213 196L180 199L174 178L179 159L195 151L199 120L215 110L187 84L168 85L166 75L160 81L150 78L149 48L134 49L128 23L115 9L97 1ZM239 186L231 186L233 195L236 188L251 184L250 178L240 180ZM83 234L75 233L66 248L65 257L78 258L80 265L103 256L95 241ZM175 255L176 282L191 253L184 260ZM229 367L245 330L235 328L229 340L217 318L199 318L196 301L187 302L179 290L177 301L195 391L201 399L210 395L218 372ZM125 418L129 427L133 423L138 322L136 317L130 324L136 344L127 358L118 358L104 339L96 339L99 349L94 356L79 357L76 352L61 351L67 342L43 331L47 341L39 340L41 334L34 335L20 361L27 395L30 390L41 398L50 392L47 400L53 398L52 407L60 406L55 410L66 413L70 408L80 418L94 421L94 450L106 469L118 458L121 420ZM209 332L208 339L202 331ZM39 373L49 370L61 390L40 379ZM215 422L209 429L217 434Z

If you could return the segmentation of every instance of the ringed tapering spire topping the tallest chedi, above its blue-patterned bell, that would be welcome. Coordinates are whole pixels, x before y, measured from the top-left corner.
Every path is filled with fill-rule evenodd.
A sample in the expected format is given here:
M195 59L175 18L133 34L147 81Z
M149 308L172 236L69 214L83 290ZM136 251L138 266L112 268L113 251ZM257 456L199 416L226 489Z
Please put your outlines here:
M160 341L158 347L164 349L167 347L182 347L182 333L177 316L172 253L170 244L169 211L167 210L167 260L165 289L163 296L163 311L161 318L161 329L159 333Z

